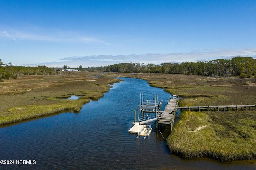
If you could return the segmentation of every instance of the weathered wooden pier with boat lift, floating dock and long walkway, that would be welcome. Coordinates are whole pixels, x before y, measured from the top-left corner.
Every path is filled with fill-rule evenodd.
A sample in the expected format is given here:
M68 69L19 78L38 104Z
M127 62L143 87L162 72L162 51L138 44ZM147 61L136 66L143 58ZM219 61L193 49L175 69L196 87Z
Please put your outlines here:
M178 109L182 110L194 110L194 111L229 111L229 110L256 110L256 105L220 105L220 106L178 106L179 99L177 95L171 95L164 111L162 111L162 101L157 100L154 97L153 101L144 101L143 96L138 105L137 122L136 122L136 111L134 111L134 126L129 130L129 133L136 133L139 136L145 136L146 138L152 128L151 125L145 125L146 123L155 121L156 128L165 127L170 125L170 130L174 127L174 121L176 118L176 112ZM140 114L141 116L140 116ZM160 131L160 129L159 129ZM162 134L162 133L161 133Z

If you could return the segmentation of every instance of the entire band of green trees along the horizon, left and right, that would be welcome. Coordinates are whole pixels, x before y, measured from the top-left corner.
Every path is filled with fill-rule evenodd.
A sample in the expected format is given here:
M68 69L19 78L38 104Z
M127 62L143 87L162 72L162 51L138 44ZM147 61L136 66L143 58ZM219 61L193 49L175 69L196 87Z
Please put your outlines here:
M66 65L64 65L65 67ZM68 67L68 66L66 66ZM160 65L144 63L119 63L108 66L88 67L80 71L100 71L119 73L166 73L206 76L239 76L241 78L256 75L256 59L252 57L234 57L232 59L216 59L211 61L161 63ZM49 75L56 74L54 68L46 66L26 67L14 66L13 63L4 64L0 59L0 81L17 78L22 75Z

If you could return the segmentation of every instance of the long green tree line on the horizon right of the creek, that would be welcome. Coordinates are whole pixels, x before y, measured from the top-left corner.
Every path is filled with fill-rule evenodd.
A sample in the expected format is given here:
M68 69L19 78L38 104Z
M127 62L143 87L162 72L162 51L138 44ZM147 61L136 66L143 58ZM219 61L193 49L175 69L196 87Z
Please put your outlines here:
M240 76L241 78L256 75L256 59L252 57L234 57L211 61L161 63L160 65L144 63L119 63L104 67L88 67L88 71L120 73L166 73L206 76Z

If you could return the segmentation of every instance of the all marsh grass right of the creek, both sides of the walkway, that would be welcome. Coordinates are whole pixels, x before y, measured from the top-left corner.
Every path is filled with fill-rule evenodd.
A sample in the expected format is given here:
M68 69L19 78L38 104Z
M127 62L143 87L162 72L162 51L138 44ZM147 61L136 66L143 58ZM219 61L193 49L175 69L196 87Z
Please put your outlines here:
M122 76L147 80L153 87L184 97L180 106L256 104L256 79L170 74ZM256 159L256 111L184 111L167 144L171 153L186 158Z

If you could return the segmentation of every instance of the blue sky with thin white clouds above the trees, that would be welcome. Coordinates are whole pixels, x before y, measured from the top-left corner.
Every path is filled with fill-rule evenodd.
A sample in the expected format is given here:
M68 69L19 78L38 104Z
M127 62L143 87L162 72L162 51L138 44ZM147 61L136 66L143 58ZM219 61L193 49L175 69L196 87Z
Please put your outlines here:
M0 59L14 65L256 59L255 0L0 0Z

